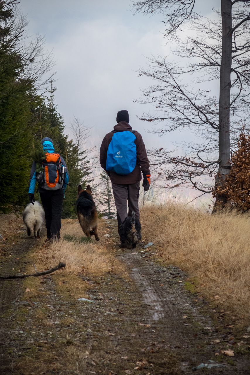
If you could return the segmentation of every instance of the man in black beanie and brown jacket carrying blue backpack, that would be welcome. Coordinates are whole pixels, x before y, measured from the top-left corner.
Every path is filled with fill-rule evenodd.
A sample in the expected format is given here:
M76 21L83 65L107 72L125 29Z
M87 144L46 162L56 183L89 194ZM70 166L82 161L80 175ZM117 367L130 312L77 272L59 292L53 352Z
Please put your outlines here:
M117 113L117 125L112 132L105 135L100 148L100 165L111 179L112 190L117 209L118 233L121 248L126 248L126 238L120 231L120 225L125 217L135 212L139 220L139 190L143 176L144 190L150 187L150 170L145 144L142 136L132 130L129 124L128 111Z

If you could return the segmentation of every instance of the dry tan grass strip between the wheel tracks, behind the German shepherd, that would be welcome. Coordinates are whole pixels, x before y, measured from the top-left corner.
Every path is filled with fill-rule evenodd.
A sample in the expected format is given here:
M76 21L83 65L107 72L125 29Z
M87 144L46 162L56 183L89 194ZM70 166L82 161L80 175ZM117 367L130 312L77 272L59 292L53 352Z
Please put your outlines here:
M59 262L66 263L65 269L60 269L53 273L57 292L61 296L72 296L73 298L88 298L87 291L90 285L82 280L79 275L90 275L100 277L105 273L112 272L122 277L127 277L126 266L115 258L115 249L112 243L106 248L106 237L102 237L105 232L106 223L100 220L99 232L100 241L94 240L90 243L79 241L71 242L63 237L73 236L80 240L85 237L79 223L76 220L62 220L61 239L49 246L37 248L36 252L30 255L37 270L46 270L54 267ZM33 266L26 269L27 273L33 273ZM41 294L46 294L46 290L41 289L40 278L28 278L23 282L23 288L30 289L25 297L36 298Z

